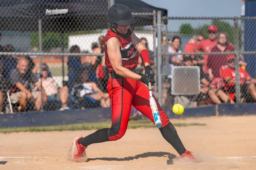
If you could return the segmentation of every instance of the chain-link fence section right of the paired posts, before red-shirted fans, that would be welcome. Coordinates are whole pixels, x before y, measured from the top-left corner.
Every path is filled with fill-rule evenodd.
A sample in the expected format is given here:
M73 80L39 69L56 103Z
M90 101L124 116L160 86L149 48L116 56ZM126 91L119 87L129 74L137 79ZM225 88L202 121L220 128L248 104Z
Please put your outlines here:
M254 17L168 17L162 26L162 105L255 102ZM184 74L175 71L183 66ZM193 72L197 66L198 72ZM239 72L238 72L239 70ZM198 78L199 77L199 78ZM195 93L195 83L200 81ZM178 84L178 85L177 85Z

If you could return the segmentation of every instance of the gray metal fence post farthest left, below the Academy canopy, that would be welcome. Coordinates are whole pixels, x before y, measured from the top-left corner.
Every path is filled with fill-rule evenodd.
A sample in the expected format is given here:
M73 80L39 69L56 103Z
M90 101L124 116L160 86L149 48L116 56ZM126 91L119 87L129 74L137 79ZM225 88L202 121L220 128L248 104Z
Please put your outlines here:
M38 36L39 36L39 52L42 53L42 20L38 20ZM44 110L44 99L43 99L43 73L42 73L42 64L43 59L40 55L40 78L41 78L41 111Z

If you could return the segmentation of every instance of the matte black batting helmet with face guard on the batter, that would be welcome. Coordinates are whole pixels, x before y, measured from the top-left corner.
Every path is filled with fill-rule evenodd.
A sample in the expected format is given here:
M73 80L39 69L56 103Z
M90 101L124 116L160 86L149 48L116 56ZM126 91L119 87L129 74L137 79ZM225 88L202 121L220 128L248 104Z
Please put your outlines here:
M135 20L132 18L132 12L130 8L124 4L114 4L108 9L108 26L116 34L128 37L131 35L135 28ZM118 25L131 24L126 34L116 32Z

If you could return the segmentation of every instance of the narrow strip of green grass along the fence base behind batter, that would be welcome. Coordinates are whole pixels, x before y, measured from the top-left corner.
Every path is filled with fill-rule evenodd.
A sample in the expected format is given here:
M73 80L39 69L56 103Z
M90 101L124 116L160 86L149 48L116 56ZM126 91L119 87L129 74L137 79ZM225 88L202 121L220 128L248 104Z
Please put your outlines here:
M202 123L174 123L174 126L205 126ZM99 122L99 123L82 123L82 124L70 124L70 125L58 125L58 126L37 126L37 127L21 127L21 128L1 128L0 133L11 133L11 132L39 132L39 131L63 131L63 130L91 130L91 129L102 129L111 126L111 122ZM128 124L129 129L135 128L154 128L155 125L150 122L131 121Z

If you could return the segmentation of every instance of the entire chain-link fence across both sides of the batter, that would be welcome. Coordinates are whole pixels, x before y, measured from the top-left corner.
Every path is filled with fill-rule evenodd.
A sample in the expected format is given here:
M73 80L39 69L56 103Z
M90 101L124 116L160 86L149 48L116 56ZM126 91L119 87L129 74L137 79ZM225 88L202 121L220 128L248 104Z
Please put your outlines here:
M2 4L1 112L110 107L108 1ZM133 11L133 18L164 108L255 101L256 18L163 18L153 11ZM141 60L137 72L144 74Z

